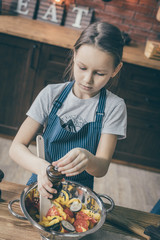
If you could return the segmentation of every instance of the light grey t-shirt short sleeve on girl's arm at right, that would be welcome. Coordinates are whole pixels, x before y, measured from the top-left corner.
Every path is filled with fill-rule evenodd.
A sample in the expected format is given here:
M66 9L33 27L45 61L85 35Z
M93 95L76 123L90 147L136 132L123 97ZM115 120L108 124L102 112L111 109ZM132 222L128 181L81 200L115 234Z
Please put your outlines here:
M112 106L104 117L102 133L117 135L118 140L126 138L127 110L123 99Z

